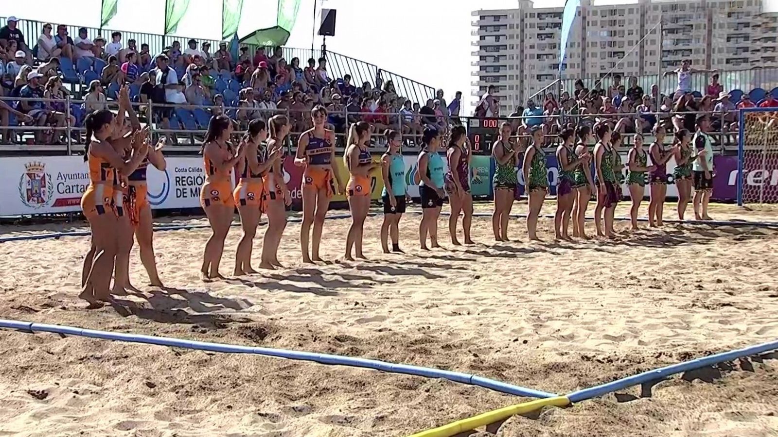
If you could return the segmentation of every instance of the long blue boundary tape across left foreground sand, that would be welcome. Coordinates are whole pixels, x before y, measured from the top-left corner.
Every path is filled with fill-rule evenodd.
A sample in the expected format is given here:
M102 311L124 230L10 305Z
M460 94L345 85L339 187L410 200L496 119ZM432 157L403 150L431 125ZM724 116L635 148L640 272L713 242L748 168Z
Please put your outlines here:
M509 383L502 383L494 379L484 378L482 376L471 375L470 373L451 372L450 370L431 369L420 367L418 365L396 364L392 362L383 362L374 359L346 357L342 355L317 354L314 352L289 351L286 349L273 348L255 348L251 346L240 346L236 344L211 343L206 341L182 340L172 337L153 337L142 334L124 334L117 332L108 332L105 330L91 330L79 327L68 327L62 325L51 325L47 323L23 322L19 320L0 319L0 328L15 330L26 330L30 332L51 332L54 334L78 335L82 337L100 338L102 340L128 341L131 343L156 344L170 348L197 349L200 351L223 352L232 354L256 354L275 358L287 358L293 360L312 361L328 365L346 365L349 367L359 367L363 369L374 369L382 372L404 373L407 375L423 376L425 378L443 378L455 383L470 384L481 386L489 390L495 390L500 393L513 394L524 397L556 397L553 393L532 390L522 386L514 386Z

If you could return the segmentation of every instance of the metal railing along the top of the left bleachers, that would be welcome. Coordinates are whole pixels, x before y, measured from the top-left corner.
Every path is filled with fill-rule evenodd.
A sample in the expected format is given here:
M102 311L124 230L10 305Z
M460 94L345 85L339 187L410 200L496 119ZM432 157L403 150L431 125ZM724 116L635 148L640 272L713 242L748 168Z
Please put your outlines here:
M6 19L5 17L0 17L0 26L5 26ZM61 23L52 23L54 24L54 30L52 30L51 35L56 35L57 26ZM24 35L24 40L27 42L27 44L30 47L30 50L32 50L33 46L36 44L38 37L40 37L40 34L43 31L44 23L40 21L32 21L32 20L26 20L23 19L19 23L17 23L17 26L19 26L19 30ZM68 37L71 37L75 40L75 37L79 34L79 27L78 25L65 25L68 29ZM181 43L181 51L184 51L184 48L186 47L186 42L189 40L188 37L174 37L170 35L159 35L154 33L140 33L140 32L128 32L124 30L118 30L118 29L96 29L94 27L86 27L86 34L89 39L94 40L95 37L98 35L102 36L107 40L107 42L110 42L110 33L114 31L121 32L121 40L122 44L126 47L128 40L135 40L136 45L138 47L138 50L140 49L142 44L149 44L149 54L153 57L156 56L156 54L159 54L163 51L165 47L172 46L173 41L178 41ZM218 40L205 40L202 38L195 38L198 40L200 44L208 42L211 44L212 51L216 51L219 47ZM202 46L201 46L202 47ZM258 46L254 46L251 44L241 44L241 47L248 47L249 48L249 54L251 55L251 58L254 57L254 51L256 51ZM434 99L435 98L435 89L432 86L424 85L421 82L417 82L412 79L408 79L403 75L398 75L393 72L388 72L387 70L379 68L377 65L370 64L365 61L360 61L359 59L350 58L349 56L345 56L343 54L338 54L333 51L326 51L323 52L321 50L314 50L311 51L310 49L300 49L300 48L292 48L292 47L282 47L283 48L283 56L286 59L287 63L291 64L291 61L293 58L299 58L300 59L300 68L303 68L305 65L307 65L307 60L309 58L326 58L328 61L328 72L331 75L331 79L338 79L342 78L344 75L351 75L352 77L352 84L355 86L361 86L363 82L369 82L370 86L376 86L377 79L381 79L382 82L386 83L387 81L392 81L394 84L394 88L396 89L396 93L398 96L405 96L408 99L414 100L415 102L422 103L426 101L427 99ZM35 58L37 54L33 53L33 58ZM269 56L269 53L268 53ZM78 72L79 74L81 72Z

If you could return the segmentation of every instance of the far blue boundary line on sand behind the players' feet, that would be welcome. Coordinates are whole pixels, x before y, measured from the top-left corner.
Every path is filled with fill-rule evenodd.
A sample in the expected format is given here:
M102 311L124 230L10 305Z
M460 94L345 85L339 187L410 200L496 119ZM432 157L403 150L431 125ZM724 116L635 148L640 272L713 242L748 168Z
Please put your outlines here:
M421 212L419 211L408 211L408 214L416 214L419 215ZM368 216L373 217L376 215L382 215L383 213L380 212L370 212ZM440 212L440 215L451 215L450 212ZM473 214L474 217L491 217L492 214L489 212L475 212ZM526 218L526 214L511 214L511 218ZM543 218L554 218L554 215L551 214L544 214L541 215ZM338 215L329 215L327 217L328 219L341 219L341 218L351 218L350 214L338 214ZM587 217L587 220L594 219L593 217ZM615 217L616 220L629 220L629 217ZM648 222L647 217L638 217L638 222ZM290 217L287 219L287 222L289 223L299 223L302 222L303 219L299 217ZM727 222L724 220L708 220L708 221L702 221L702 220L673 220L673 219L665 219L665 223L674 223L674 224L685 224L685 225L713 225L713 226L741 226L741 227L748 227L748 226L755 226L758 228L769 228L769 229L778 229L778 222ZM260 222L260 225L267 224L266 222ZM240 226L240 222L236 222L232 224L233 227ZM177 230L184 230L184 229L208 229L210 228L210 225L162 225L162 226L156 226L154 228L154 232L159 231L177 231ZM45 233L45 234L36 234L36 235L20 235L20 236L4 236L0 237L0 243L11 243L13 241L30 241L34 239L48 239L48 238L54 238L54 239L60 239L65 236L89 236L92 232L89 231L73 231L73 232L51 232L51 233Z

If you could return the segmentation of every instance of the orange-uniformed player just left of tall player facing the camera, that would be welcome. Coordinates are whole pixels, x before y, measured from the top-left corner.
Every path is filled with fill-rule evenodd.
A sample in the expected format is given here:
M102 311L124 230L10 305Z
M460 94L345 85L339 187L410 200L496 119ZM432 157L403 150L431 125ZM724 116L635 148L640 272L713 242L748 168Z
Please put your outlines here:
M283 267L279 262L279 244L286 229L286 207L292 205L292 194L284 180L284 140L292 125L286 115L274 115L268 121L270 139L263 150L264 160L270 164L265 173L265 211L268 214L268 229L262 243L261 268Z

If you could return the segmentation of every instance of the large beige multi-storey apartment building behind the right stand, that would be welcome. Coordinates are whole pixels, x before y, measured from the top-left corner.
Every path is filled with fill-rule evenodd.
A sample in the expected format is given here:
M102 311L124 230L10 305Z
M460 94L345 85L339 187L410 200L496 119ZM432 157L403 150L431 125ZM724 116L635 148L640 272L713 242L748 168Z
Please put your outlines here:
M501 114L524 106L558 75L562 8L517 3L472 12L471 101L497 86ZM656 75L684 59L708 69L778 67L778 14L765 12L763 0L582 0L577 13L562 79Z

